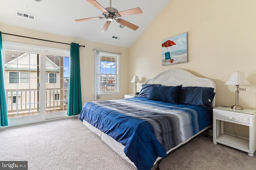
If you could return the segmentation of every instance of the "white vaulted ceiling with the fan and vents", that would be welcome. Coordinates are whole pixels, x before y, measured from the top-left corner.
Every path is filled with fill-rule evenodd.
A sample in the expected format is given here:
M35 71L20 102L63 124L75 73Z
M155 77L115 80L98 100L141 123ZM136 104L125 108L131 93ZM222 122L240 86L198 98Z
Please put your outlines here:
M126 26L121 28L120 23L113 20L108 30L102 33L102 28L108 21L106 18L74 21L81 18L102 17L102 12L87 0L37 1L1 0L0 23L120 47L130 47L170 2L170 0L112 0L111 7L116 8L118 12L137 7L142 10L142 14L121 16L121 19L139 28L136 31ZM110 7L110 0L97 0L96 2L104 8ZM17 16L17 11L28 14L32 16L31 18L34 17L34 20ZM118 38L112 38L113 36Z

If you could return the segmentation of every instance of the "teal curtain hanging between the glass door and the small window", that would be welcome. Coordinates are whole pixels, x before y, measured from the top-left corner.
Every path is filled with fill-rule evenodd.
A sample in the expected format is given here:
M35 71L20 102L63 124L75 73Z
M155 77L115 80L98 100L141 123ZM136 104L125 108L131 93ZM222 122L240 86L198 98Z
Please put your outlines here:
M78 115L82 110L79 44L71 43L68 91L68 115Z

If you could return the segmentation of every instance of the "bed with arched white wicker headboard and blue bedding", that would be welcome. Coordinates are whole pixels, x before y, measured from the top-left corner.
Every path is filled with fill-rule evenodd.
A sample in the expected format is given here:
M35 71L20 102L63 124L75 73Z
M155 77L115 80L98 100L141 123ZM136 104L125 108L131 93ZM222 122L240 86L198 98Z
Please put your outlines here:
M146 80L138 97L86 102L84 125L138 170L212 126L215 84L181 69Z

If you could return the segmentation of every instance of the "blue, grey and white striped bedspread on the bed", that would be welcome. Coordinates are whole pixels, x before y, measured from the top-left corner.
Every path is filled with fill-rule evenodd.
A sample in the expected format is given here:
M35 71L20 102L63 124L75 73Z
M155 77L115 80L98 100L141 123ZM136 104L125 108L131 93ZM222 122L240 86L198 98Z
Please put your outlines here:
M158 156L212 125L212 110L137 97L87 102L79 119L122 143L138 170L150 170Z

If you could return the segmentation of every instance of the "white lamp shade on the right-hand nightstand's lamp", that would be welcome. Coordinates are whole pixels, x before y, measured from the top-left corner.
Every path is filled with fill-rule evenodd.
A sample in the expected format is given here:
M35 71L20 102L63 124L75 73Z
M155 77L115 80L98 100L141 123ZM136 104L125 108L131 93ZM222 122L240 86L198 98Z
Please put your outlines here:
M246 79L243 72L233 72L225 84L230 85L251 85Z

